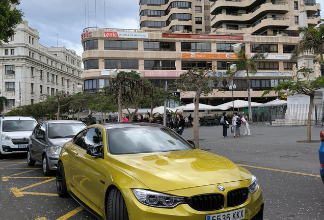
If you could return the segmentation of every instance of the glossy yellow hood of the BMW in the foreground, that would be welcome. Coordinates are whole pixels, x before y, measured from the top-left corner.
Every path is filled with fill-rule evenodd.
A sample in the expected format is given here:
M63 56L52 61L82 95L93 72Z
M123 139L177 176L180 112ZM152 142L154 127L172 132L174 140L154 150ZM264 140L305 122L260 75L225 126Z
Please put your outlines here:
M168 191L251 179L250 172L203 150L112 155L113 166L149 189Z

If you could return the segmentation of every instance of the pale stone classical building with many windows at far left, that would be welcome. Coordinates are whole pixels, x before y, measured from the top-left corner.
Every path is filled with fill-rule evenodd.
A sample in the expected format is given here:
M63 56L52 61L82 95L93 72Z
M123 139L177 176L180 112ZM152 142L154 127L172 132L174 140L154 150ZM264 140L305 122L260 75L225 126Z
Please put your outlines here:
M38 31L23 21L0 48L0 90L9 100L4 113L58 91L76 93L76 85L83 84L81 57L65 47L45 47L39 39Z

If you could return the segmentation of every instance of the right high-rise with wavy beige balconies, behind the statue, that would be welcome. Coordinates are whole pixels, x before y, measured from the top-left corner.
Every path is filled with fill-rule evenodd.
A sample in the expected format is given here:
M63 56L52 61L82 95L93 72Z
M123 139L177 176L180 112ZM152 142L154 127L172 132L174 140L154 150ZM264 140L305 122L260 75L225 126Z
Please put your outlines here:
M315 0L210 2L212 32L267 35L286 33L292 36L300 25L300 10L303 6L307 11L308 26L316 25L320 19L320 5Z

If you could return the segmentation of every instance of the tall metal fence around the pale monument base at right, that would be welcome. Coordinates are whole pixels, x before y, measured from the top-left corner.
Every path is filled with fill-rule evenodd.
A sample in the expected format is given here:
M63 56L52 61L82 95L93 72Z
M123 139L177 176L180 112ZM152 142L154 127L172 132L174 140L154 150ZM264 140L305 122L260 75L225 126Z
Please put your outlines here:
M268 126L305 126L309 104L287 104L252 108L253 124ZM322 124L322 104L314 104L311 124Z

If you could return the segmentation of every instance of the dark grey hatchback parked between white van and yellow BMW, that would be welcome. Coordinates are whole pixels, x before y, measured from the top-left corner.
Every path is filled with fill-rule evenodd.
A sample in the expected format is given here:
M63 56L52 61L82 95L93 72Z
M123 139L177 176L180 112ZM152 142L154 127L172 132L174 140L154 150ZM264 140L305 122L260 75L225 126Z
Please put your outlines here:
M87 125L81 121L53 120L38 123L30 136L27 163L34 166L36 161L43 164L43 173L50 175L57 170L62 146Z

